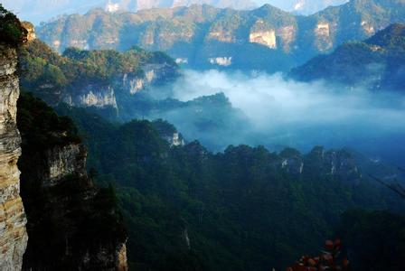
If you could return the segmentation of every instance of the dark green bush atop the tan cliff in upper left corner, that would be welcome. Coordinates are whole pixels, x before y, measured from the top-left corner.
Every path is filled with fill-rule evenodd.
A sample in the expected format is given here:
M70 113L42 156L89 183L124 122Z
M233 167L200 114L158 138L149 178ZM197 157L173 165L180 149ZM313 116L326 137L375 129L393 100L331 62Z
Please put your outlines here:
M0 4L0 41L12 46L26 42L27 31L13 13Z

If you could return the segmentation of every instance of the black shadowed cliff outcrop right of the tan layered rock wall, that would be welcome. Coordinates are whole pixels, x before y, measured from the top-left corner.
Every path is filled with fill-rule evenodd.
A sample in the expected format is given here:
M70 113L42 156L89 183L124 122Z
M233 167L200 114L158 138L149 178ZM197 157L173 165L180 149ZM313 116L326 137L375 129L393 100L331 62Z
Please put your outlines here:
M32 96L18 103L22 198L30 241L24 270L127 270L127 235L112 189L86 173L71 120Z

